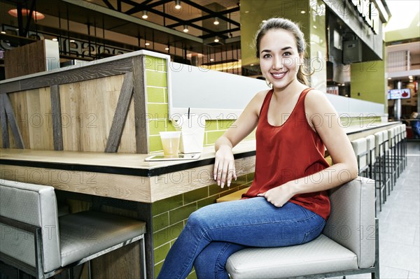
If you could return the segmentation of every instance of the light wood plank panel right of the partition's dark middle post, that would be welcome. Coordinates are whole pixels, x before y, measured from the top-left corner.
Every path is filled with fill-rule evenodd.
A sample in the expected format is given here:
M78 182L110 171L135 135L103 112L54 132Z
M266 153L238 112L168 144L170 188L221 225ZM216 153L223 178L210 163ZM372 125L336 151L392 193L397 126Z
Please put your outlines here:
M104 152L123 78L111 76L60 86L64 150ZM133 116L127 119L134 125ZM119 152L134 153L133 138L134 133L127 129L121 142L130 143L121 145Z

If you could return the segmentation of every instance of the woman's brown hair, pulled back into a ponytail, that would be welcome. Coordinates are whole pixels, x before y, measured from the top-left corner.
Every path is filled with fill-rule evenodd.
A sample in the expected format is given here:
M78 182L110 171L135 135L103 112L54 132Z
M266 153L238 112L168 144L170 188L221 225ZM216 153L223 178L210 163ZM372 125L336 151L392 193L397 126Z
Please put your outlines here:
M256 36L255 36L255 48L256 48L256 56L257 58L260 58L260 43L262 37L267 34L268 31L272 29L283 29L286 31L289 31L293 36L295 37L296 46L297 46L297 52L299 54L304 55L304 52L306 50L306 43L304 41L304 36L302 31L300 31L299 26L290 20L286 20L285 18L270 18L265 23L262 23L260 26L260 29L258 30ZM300 81L300 83L303 83L304 85L309 85L307 76L309 76L304 71L304 66L300 65L299 69L297 71L297 80Z

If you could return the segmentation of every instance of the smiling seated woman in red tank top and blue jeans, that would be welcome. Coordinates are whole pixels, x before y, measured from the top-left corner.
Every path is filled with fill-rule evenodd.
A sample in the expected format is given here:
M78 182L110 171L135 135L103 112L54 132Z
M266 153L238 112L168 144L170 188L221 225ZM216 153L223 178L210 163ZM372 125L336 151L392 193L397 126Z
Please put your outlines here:
M325 94L302 71L305 43L289 20L267 20L256 36L260 68L272 90L256 94L216 141L214 178L236 178L232 148L258 126L255 178L244 199L195 211L158 278L228 278L225 263L249 246L278 247L313 240L330 212L327 189L358 176L356 157ZM323 158L325 147L335 163Z

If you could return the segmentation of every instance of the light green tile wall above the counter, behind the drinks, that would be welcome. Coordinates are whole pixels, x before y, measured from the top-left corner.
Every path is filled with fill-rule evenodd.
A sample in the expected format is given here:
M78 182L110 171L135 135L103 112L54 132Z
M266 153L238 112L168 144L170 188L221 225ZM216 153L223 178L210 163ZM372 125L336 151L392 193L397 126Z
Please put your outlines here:
M168 85L165 59L146 56L146 95L149 151L161 152L160 131L175 131L168 120ZM205 124L204 145L213 145L216 140L235 122L235 120L207 120ZM246 140L255 139L251 133Z

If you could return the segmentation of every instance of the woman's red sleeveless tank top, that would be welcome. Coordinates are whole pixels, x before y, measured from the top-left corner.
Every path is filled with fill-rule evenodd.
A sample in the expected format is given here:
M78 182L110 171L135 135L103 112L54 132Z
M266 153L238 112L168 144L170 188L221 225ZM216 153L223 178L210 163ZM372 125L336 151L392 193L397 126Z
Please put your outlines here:
M304 110L304 98L310 90L302 91L295 108L290 115L285 115L288 119L281 126L272 126L267 120L273 90L265 96L256 131L255 177L243 198L255 197L290 180L328 168L324 159L325 146L309 126ZM316 176L311 180L316 183ZM317 213L325 220L330 214L330 199L326 191L297 194L290 202Z

